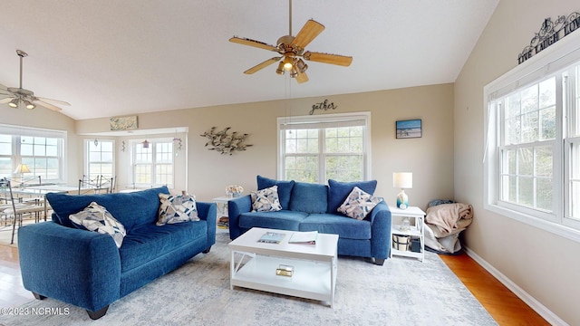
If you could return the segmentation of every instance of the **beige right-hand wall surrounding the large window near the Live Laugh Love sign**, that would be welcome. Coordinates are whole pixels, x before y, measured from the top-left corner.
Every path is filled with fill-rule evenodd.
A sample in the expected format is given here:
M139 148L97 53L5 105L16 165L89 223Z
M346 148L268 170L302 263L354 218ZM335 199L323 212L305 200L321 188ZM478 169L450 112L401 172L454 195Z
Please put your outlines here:
M500 1L455 83L454 113L455 198L473 204L476 213L466 244L537 301L529 304L545 306L570 325L580 325L580 244L483 209L483 87L517 66L517 54L546 17L575 11L580 11L576 0ZM557 316L543 313L557 323Z

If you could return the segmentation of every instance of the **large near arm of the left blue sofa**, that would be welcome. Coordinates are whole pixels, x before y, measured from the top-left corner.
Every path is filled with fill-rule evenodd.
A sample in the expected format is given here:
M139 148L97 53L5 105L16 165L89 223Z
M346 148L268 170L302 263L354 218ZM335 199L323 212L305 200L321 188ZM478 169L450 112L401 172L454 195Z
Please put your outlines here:
M52 221L18 229L24 288L97 312L120 297L121 257L110 235Z

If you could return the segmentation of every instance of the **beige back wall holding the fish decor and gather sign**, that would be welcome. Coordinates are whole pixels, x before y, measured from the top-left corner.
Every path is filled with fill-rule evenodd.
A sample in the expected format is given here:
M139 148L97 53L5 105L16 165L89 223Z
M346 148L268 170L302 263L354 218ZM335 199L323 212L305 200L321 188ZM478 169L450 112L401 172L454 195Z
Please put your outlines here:
M453 195L453 85L441 84L392 91L373 91L291 101L265 101L189 110L139 114L140 129L187 127L187 189L200 200L225 195L225 187L240 184L246 193L256 189L256 175L276 176L276 118L308 115L312 105L328 99L336 110L314 114L370 111L372 113L372 178L379 181L377 195L388 202L396 197L392 172L413 172L407 190L411 205L425 207L433 198ZM423 137L395 139L395 120L421 119ZM200 137L211 127L249 133L253 146L232 156L204 147ZM103 132L108 119L77 121L79 133ZM118 139L117 145L121 141ZM117 151L118 180L129 160ZM125 154L126 155L126 154ZM179 190L179 189L176 189Z

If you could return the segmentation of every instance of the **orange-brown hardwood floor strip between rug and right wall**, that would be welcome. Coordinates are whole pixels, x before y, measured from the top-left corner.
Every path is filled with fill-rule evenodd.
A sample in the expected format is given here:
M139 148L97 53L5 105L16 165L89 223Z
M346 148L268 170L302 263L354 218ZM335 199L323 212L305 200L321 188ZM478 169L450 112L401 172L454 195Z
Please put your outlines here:
M549 325L468 254L440 257L499 325Z

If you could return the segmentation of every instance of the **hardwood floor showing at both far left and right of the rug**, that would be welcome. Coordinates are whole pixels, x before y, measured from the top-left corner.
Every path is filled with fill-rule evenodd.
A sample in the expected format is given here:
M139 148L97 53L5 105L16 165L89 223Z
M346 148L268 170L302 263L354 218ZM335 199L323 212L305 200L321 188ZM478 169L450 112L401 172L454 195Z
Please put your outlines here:
M440 257L499 325L549 325L469 255ZM0 308L15 307L31 300L34 300L32 293L22 285L18 250L14 246L0 245Z

